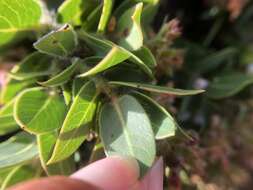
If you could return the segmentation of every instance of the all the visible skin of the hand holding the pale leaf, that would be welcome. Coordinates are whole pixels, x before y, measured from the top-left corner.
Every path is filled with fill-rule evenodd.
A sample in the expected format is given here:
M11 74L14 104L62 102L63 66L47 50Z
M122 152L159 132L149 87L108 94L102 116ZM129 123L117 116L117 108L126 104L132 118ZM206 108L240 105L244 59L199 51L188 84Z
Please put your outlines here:
M77 171L70 177L54 176L20 183L9 190L162 190L163 164L159 159L139 181L136 160L108 157Z

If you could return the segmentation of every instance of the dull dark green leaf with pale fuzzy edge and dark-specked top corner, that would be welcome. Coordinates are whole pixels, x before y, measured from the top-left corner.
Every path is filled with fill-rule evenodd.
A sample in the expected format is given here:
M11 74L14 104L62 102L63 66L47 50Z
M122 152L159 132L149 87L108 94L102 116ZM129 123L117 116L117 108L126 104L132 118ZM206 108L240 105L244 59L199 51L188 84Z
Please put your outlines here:
M33 46L48 55L67 57L77 46L77 35L71 25L63 27L39 39Z

